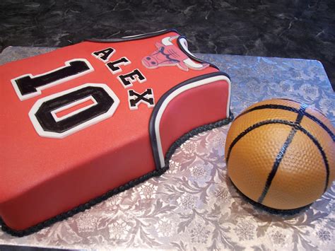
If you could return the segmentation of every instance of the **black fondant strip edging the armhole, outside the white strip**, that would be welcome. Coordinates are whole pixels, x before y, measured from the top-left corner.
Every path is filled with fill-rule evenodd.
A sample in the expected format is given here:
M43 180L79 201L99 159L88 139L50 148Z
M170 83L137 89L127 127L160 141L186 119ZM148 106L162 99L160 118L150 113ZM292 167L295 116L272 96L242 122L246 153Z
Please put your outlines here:
M211 78L213 76L226 76L230 79L230 77L228 76L228 74L225 74L224 72L214 72L211 74L205 74L202 76L196 76L194 78L190 78L187 81L184 81L180 84L178 84L177 86L172 87L169 91L167 91L166 93L164 93L160 99L158 100L158 102L155 104L155 107L153 108L153 112L151 113L151 117L150 117L150 122L149 122L149 135L150 135L150 141L151 141L151 148L153 150L153 159L155 160L155 167L157 170L159 170L161 168L160 166L160 158L159 158L159 153L158 153L158 144L157 144L157 136L155 134L155 120L158 114L158 111L160 110L161 105L163 104L164 100L174 91L176 91L177 89L181 88L182 86L186 86L190 83L194 83L196 81L201 81L204 80L206 78ZM230 104L227 104L230 105ZM231 119L233 116L230 115L230 117L228 119ZM166 165L166 163L165 163Z

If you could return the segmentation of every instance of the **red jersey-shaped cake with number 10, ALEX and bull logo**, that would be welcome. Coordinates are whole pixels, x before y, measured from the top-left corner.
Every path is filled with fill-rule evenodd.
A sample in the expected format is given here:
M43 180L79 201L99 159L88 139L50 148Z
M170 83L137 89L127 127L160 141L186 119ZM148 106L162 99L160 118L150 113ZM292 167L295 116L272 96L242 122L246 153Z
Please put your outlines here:
M230 79L175 30L88 40L0 66L0 218L33 233L168 168L230 122Z

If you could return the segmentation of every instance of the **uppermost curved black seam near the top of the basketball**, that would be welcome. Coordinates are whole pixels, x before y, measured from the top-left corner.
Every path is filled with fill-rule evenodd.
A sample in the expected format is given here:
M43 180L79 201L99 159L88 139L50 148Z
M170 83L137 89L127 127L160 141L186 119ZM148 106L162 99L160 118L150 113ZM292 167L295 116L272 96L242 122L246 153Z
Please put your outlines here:
M249 112L252 112L254 110L262 110L262 109L280 109L280 110L288 110L290 112L295 112L295 113L299 113L299 110L297 108L294 107L289 107L286 105L274 105L274 104L269 104L269 105L259 105L257 107L252 107L249 110L246 110L245 112L242 112L240 115L238 115L237 117L235 117L235 119L242 117L242 115L246 115ZM310 115L309 113L304 111L304 116L308 117L309 119L312 119L312 121L316 122L317 124L319 124L320 127L322 127L322 129L324 129L324 131L327 132L327 134L329 134L329 136L331 136L331 139L333 141L335 141L335 136L334 133L331 132L331 129L329 129L327 127L327 125L325 125L321 120L317 119L317 117Z

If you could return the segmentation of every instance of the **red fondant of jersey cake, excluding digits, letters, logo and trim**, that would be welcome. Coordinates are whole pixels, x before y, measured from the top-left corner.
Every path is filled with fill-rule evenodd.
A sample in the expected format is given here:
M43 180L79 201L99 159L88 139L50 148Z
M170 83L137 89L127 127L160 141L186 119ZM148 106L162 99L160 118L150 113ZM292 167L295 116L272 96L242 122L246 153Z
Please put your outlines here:
M143 93L152 88L157 103L178 83L218 71L211 66L199 71L143 66L141 59L156 49L155 42L172 35L176 33L129 42L81 42L0 66L0 217L7 226L15 230L29 228L155 170L148 132L153 108L140 104L138 110L129 110L127 90ZM107 47L116 50L109 61L127 57L131 64L120 66L122 72L113 75L91 54ZM27 100L21 101L16 95L11 79L43 74L76 58L87 59L94 71L45 88L42 94ZM117 76L134 69L140 69L147 81L136 81L131 88L124 88ZM105 83L112 89L120 100L114 115L63 139L37 134L28 116L37 100L84 83ZM206 98L199 103L201 92ZM176 98L176 103L167 107L160 127L164 153L189 129L225 118L227 95L227 84L221 81Z

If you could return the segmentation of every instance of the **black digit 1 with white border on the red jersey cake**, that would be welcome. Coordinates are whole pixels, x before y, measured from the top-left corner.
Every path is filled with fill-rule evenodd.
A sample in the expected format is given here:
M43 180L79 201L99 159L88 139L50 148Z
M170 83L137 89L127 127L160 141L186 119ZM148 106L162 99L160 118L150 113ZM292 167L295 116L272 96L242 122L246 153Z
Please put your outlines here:
M37 77L39 77L39 76L43 76L43 75L47 75L47 74L51 74L51 73L54 72L54 71L59 71L60 69L63 69L63 68L65 68L65 67L67 67L67 66L70 66L70 63L71 63L71 62L74 62L74 61L82 61L82 62L85 62L85 63L87 64L87 66L88 66L89 69L88 69L87 71L83 71L83 72L81 72L81 73L79 73L79 74L75 74L75 75L72 75L72 76L68 76L68 77L66 77L66 78L61 78L61 79L59 79L59 80L57 80L57 81L54 81L54 82L52 82L52 83L49 83L49 84L47 84L47 85L45 85L45 86L37 87L37 88L36 88L37 91L34 92L34 93L29 93L29 94L26 94L26 95L22 95L22 94L21 94L21 92L20 92L20 90L19 90L19 88L18 88L18 85L16 84L16 80L17 80L18 78L23 78L23 77L25 77L25 76L30 76L30 78L37 78ZM71 60L65 62L65 66L61 66L61 67L59 67L59 68L57 68L57 69L53 69L52 71L47 71L47 72L44 72L44 73L42 73L42 74L38 74L38 75L35 75L35 76L33 76L33 74L25 74L25 75L18 76L17 78L13 78L13 79L11 79L11 84L13 85L13 88L14 88L14 90L16 91L16 94L18 95L18 98L19 98L21 101L23 101L23 100L26 100L26 99L28 99L28 98L33 98L33 97L35 97L35 96L37 96L37 95L40 95L40 94L42 93L42 90L44 90L44 89L46 89L46 88L49 88L49 87L52 87L52 86L56 86L56 85L58 85L59 83L64 83L64 82L66 82L66 81L70 81L71 79L78 78L79 76L83 76L83 75L88 74L88 73L90 73L90 72L92 72L92 71L94 71L94 68L93 68L93 66L90 64L90 62L88 62L87 59L71 59Z

